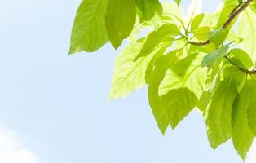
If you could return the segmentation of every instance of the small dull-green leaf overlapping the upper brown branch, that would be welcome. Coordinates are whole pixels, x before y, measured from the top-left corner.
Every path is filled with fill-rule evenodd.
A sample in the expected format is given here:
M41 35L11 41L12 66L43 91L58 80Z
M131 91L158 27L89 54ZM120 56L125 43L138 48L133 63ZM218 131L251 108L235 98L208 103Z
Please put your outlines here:
M217 29L209 33L209 40L213 42L216 48L222 45L226 40L229 29Z

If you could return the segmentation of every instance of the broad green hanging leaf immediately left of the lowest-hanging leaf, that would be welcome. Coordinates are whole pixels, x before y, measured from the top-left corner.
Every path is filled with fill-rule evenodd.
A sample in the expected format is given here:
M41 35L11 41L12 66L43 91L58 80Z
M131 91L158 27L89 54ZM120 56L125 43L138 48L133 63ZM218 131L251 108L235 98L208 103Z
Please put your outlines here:
M231 75L221 81L205 111L208 139L214 149L232 137L232 104L236 94L236 82Z

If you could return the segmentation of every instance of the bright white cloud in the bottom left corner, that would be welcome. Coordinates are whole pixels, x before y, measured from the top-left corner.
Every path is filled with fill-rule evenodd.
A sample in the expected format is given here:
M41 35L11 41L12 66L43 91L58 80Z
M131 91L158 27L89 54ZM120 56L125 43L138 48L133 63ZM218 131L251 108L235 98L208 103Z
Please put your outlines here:
M0 162L38 163L38 159L33 152L22 146L14 131L0 126Z

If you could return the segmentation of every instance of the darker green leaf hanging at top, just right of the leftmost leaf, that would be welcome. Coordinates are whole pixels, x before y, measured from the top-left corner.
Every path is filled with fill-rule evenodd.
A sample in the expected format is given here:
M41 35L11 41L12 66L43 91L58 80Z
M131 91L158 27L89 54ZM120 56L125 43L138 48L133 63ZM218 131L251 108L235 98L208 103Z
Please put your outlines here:
M109 0L106 13L106 29L113 47L130 35L136 20L134 0Z

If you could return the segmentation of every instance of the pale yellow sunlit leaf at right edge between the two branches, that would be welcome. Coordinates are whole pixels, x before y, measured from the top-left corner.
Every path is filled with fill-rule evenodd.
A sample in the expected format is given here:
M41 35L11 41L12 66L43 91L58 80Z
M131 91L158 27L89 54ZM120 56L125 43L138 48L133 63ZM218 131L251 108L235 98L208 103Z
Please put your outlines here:
M245 50L253 62L256 61L256 14L247 9L241 13L240 22L238 24L238 35L244 39L241 47Z

